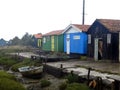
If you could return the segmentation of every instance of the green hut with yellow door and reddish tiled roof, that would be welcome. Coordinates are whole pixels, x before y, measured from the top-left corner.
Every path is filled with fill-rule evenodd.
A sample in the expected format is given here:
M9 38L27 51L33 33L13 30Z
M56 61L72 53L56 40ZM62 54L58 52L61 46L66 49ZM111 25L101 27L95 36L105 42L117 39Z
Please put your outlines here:
M63 30L51 31L43 35L42 49L44 51L63 52Z

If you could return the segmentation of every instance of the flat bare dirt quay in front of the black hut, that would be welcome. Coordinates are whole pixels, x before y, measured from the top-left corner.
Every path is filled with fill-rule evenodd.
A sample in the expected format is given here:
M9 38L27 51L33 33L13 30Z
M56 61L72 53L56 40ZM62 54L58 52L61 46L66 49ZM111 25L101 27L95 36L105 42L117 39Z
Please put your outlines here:
M92 69L101 71L101 72L110 72L120 75L120 63L112 63L110 61L93 61L93 60L79 60L79 59L73 59L68 61L59 61L59 62L48 62L48 65L54 66L54 67L60 67L60 65L63 65L63 68L68 67L76 67L76 66L82 66L82 67L91 67Z

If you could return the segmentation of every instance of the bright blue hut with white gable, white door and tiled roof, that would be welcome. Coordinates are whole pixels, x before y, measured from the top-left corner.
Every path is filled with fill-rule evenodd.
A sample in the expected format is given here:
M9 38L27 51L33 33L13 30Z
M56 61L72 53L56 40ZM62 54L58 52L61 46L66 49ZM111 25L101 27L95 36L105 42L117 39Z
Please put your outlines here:
M87 34L89 25L70 24L63 32L64 52L67 54L87 53Z

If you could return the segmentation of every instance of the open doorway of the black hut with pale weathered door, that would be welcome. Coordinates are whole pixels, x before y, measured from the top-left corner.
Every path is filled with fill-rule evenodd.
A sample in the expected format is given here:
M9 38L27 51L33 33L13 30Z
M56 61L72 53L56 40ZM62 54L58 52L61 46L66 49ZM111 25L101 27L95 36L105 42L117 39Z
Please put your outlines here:
M102 39L95 38L94 41L94 59L101 60L102 59L102 48L103 48L103 41Z

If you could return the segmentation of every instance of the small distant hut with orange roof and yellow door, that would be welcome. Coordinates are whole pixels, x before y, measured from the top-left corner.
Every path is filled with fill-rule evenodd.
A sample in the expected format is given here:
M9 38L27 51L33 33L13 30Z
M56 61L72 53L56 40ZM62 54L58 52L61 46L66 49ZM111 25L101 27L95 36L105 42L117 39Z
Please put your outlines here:
M42 33L34 34L32 39L33 39L33 46L41 48L41 46L42 46Z

